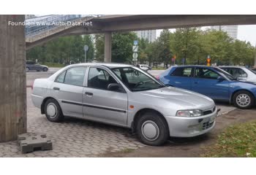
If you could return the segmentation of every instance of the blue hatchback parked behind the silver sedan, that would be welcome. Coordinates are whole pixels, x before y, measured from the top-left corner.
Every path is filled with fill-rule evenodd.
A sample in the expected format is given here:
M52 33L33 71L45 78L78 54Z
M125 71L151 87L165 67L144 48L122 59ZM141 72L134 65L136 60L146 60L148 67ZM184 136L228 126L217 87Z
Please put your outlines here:
M216 101L228 101L240 109L255 106L256 85L240 82L226 71L210 66L172 66L159 75L165 85L201 93Z

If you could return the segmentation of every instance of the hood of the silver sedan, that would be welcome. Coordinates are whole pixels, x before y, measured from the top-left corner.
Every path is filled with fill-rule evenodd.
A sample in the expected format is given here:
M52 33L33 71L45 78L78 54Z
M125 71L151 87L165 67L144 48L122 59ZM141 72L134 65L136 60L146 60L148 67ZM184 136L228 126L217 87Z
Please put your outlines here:
M157 90L141 91L142 96L151 96L159 101L164 100L177 109L211 109L214 107L214 101L200 93L181 88L165 87ZM161 102L160 102L161 105Z

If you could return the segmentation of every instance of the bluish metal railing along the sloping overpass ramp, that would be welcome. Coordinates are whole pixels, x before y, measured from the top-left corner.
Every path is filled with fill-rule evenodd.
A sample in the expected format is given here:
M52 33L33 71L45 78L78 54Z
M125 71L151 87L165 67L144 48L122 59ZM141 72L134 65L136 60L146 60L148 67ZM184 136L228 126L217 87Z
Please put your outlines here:
M26 37L36 36L42 32L49 31L50 29L59 27L60 24L66 24L67 21L78 20L80 18L92 17L97 18L102 15L49 15L48 18L32 18L26 20Z

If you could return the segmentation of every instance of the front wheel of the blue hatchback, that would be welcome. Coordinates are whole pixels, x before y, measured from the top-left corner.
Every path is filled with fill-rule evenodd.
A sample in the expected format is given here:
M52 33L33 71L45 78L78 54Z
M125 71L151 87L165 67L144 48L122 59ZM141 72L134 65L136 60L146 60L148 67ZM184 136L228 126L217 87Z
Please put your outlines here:
M239 90L233 96L233 104L239 109L251 109L255 104L255 97L246 90Z

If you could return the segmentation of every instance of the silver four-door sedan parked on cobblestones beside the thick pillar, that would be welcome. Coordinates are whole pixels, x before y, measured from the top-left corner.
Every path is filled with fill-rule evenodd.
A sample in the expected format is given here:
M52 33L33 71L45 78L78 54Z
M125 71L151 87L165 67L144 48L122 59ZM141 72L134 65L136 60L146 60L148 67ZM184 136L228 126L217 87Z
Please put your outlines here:
M144 144L161 145L170 136L192 137L214 128L211 98L166 87L136 66L81 63L35 79L34 105L51 122L78 117L131 128Z

